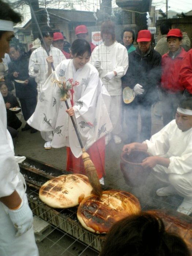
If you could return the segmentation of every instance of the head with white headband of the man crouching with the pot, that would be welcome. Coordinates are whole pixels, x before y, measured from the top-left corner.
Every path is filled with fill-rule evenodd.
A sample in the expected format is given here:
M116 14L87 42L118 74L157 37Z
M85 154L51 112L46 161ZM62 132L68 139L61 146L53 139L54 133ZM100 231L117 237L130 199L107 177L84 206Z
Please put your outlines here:
M177 127L183 132L192 128L192 97L181 99L175 120Z

